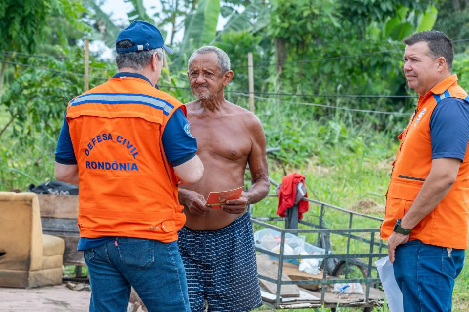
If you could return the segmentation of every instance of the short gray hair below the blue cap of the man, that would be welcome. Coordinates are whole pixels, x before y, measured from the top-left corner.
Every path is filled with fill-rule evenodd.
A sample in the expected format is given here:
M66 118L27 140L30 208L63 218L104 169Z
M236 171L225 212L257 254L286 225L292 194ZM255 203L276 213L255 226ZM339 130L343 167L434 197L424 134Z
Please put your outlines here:
M128 48L132 47L133 43L130 40L122 40L117 43L118 48ZM117 53L116 54L116 64L117 68L133 68L135 70L142 70L147 66L150 61L153 53L157 54L158 59L163 58L163 48L156 48L145 51L134 51L128 53Z

